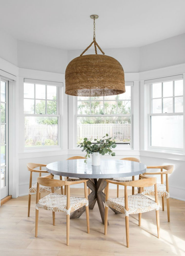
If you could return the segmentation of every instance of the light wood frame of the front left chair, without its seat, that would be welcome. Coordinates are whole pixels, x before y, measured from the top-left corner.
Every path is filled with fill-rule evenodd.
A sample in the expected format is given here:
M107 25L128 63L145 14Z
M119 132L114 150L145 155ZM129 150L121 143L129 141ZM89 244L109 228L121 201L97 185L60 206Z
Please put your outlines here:
M85 198L88 200L87 195L87 180L78 180L78 181L63 181L63 180L55 180L53 179L53 174L48 176L42 176L37 178L37 193L36 193L36 204L39 202L39 185L51 187L52 193L54 193L54 187L67 187L67 205L66 209L70 208L70 185L84 183L84 195ZM53 225L55 225L55 212L53 211ZM39 217L39 210L35 209L35 237L38 234L38 217ZM89 234L89 206L86 206L86 220L87 220L87 233ZM69 226L70 226L70 215L66 215L66 236L67 242L66 244L69 245Z

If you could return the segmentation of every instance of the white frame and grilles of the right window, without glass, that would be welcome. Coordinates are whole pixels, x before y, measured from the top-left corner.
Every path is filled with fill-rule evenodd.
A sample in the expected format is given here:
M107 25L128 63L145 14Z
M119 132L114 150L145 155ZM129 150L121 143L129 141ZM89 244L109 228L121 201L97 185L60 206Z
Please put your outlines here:
M147 149L148 150L155 150L155 151L165 151L165 152L174 152L174 153L183 153L184 147L183 148L172 148L172 147L160 147L160 146L151 146L151 117L152 116L183 116L183 112L174 112L174 81L176 80L182 80L183 75L176 75L176 76L169 76L169 77L164 77L164 78L157 78L157 79L152 79L152 80L147 80L144 81L144 84L147 86ZM163 83L167 81L173 81L173 96L171 97L163 97L161 94L160 99L165 99L165 98L173 98L173 112L172 113L152 113L152 84L154 83ZM148 83L150 82L150 83ZM163 90L163 86L161 86L161 90ZM184 99L184 90L183 90L183 96ZM159 98L155 98L159 99ZM161 100L161 112L163 111L163 101ZM184 105L184 101L183 101ZM184 123L184 122L183 122ZM183 127L184 129L184 127ZM184 136L184 134L183 134Z

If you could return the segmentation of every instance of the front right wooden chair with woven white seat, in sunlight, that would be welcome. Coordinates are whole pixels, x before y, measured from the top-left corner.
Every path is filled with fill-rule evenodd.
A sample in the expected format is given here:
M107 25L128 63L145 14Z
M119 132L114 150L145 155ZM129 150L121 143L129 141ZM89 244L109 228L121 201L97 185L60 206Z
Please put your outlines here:
M143 179L144 178L144 179ZM109 198L109 183L118 184L118 182L112 180L106 180L106 198L105 198L105 235L107 234L107 221L108 221L108 207L114 208L125 215L126 225L126 242L129 247L129 214L139 215L139 226L141 226L141 213L155 210L158 238L160 238L160 225L159 225L159 205L158 205L158 194L157 194L157 183L156 178L148 178L142 175L140 180L119 182L119 185L125 186L125 197ZM154 185L155 189L155 201L142 194L142 188ZM127 195L127 186L139 187L139 193L135 195Z

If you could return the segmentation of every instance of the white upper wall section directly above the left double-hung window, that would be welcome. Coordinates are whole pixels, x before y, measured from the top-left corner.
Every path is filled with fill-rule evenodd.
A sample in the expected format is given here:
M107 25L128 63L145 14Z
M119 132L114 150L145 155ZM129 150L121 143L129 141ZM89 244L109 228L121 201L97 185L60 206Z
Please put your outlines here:
M18 67L64 74L67 50L18 40Z

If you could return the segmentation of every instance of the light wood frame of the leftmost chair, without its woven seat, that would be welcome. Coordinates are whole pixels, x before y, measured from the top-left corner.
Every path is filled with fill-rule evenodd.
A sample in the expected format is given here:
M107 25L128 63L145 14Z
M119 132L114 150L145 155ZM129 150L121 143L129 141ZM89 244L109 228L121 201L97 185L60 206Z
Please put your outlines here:
M36 164L36 163L27 163L27 169L28 171L30 171L30 182L29 182L29 189L32 187L32 173L33 172L37 172L39 173L39 177L41 177L42 173L49 173L47 171L43 171L42 167L45 167L46 164ZM35 168L38 168L39 170L35 170ZM60 176L60 180L62 180L62 176ZM61 189L61 194L63 195L63 187L60 188ZM40 194L39 194L39 198L40 198ZM29 194L28 197L28 217L30 217L30 205L31 205L31 195Z

